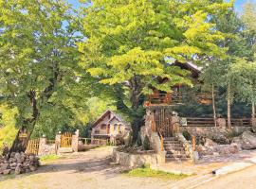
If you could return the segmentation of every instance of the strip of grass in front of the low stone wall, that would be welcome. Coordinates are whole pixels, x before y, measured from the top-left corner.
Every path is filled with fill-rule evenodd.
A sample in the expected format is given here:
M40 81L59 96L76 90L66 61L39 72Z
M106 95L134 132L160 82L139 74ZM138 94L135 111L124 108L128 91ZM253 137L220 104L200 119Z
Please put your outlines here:
M174 174L161 170L154 170L150 167L141 167L136 168L127 172L124 172L125 175L129 177L140 177L140 178L156 178L161 180L182 180L189 177L185 174Z

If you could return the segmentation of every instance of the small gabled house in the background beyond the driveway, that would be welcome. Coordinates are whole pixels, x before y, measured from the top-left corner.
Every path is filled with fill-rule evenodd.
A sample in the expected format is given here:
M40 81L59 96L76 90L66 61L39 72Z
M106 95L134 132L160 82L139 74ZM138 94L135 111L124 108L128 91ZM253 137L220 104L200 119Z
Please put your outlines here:
M92 125L92 139L109 139L116 137L119 133L130 130L130 126L116 113L104 112Z

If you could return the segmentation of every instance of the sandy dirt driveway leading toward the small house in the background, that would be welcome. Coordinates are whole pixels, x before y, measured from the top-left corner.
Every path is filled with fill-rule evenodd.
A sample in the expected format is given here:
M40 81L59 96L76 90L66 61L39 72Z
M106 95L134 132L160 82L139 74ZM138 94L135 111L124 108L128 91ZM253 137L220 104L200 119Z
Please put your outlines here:
M111 147L65 155L32 174L0 177L1 189L155 189L170 188L174 180L130 178L110 165Z

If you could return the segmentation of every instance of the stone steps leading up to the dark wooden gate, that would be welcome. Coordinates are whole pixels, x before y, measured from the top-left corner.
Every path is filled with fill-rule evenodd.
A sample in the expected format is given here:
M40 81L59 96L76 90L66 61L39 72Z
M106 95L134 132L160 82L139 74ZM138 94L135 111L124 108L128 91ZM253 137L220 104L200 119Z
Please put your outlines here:
M191 160L190 155L186 153L183 143L177 137L164 138L164 149L166 151L166 162Z

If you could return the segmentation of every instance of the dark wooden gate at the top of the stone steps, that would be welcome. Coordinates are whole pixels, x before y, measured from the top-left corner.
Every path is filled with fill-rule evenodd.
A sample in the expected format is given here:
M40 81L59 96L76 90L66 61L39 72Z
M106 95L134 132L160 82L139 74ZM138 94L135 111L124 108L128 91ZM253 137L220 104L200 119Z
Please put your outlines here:
M170 109L159 108L154 111L155 127L163 137L174 136L174 127L172 124L172 112Z

